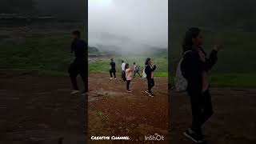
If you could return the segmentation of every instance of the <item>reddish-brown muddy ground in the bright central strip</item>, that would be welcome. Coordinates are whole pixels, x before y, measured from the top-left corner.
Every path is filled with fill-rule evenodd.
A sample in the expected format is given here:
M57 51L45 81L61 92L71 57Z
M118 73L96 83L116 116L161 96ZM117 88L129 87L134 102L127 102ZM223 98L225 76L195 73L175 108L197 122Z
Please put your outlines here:
M120 76L121 77L121 76ZM145 135L167 137L167 78L154 78L154 98L146 93L146 79L134 78L132 93L126 92L126 82L109 74L89 76L89 136L129 136L130 141L90 141L92 143L152 143ZM168 143L167 141L154 143Z

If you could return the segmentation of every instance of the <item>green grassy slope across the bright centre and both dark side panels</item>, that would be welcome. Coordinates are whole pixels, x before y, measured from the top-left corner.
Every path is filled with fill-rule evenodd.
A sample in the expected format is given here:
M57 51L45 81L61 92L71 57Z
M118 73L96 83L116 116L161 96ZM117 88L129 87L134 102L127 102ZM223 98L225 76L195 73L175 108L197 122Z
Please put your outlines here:
M170 69L174 75L176 64L181 54L181 41L185 29L172 30ZM213 86L256 86L256 61L254 54L256 43L255 33L242 30L218 30L207 29L204 32L205 49L209 51L215 38L223 39L223 50L219 53L218 64L211 71ZM46 32L32 38L1 39L0 69L39 70L40 74L67 75L67 66L72 61L70 54L70 31L62 33L54 31ZM217 31L217 30L216 30ZM143 66L146 57L123 58L127 62L138 62ZM117 66L120 66L121 58L115 58ZM158 65L157 76L167 76L167 61L164 57L154 58ZM108 73L109 59L90 63L90 72L104 71ZM174 78L173 76L170 77ZM170 79L170 80L171 80Z

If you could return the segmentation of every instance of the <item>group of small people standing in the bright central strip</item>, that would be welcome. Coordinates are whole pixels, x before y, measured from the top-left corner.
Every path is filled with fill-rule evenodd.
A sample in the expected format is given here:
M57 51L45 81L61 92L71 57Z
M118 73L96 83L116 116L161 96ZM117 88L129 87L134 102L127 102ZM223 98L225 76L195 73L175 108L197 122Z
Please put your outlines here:
M110 59L110 79L117 79L116 78L116 65L114 62L114 59ZM151 58L146 58L145 62L145 69L143 70L144 75L146 75L147 83L148 83L148 89L145 91L146 94L148 94L150 97L154 97L154 94L152 92L152 88L154 87L154 70L156 69L156 65L153 66L153 61ZM122 81L126 82L126 90L128 93L132 92L130 90L130 82L133 78L135 78L136 74L138 74L139 77L142 77L140 73L140 68L138 65L136 65L136 62L133 63L132 66L129 65L129 63L125 63L122 60ZM114 75L114 78L113 78Z

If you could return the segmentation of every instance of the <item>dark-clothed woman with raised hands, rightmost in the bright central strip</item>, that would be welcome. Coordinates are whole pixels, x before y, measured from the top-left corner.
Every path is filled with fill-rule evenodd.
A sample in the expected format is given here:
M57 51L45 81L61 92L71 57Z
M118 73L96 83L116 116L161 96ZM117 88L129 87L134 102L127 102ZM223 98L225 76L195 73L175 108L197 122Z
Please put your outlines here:
M154 70L156 69L156 65L153 66L153 61L151 58L146 58L145 62L145 74L147 79L148 90L146 90L146 94L149 94L150 97L154 97L152 92L152 88L154 87Z

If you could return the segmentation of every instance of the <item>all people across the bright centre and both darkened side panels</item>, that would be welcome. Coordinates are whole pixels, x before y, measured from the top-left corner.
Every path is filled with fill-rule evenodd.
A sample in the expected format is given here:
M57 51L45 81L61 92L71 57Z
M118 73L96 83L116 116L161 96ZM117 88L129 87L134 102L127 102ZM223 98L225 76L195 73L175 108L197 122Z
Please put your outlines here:
M76 81L78 74L81 75L83 82L86 82L87 78L87 43L80 39L79 31L74 31L73 35L74 41L72 42L71 53L74 52L75 59L70 65L69 73L74 88L71 94L77 94L80 92ZM192 110L192 126L184 132L184 135L196 143L202 143L205 142L202 134L202 125L214 113L209 91L210 83L208 80L208 71L217 62L219 46L214 46L214 50L211 51L210 57L207 58L205 51L202 49L201 30L194 27L186 32L182 47L183 59L181 63L181 71L184 78L186 78L186 91L190 95ZM110 77L111 79L116 79L114 59L111 59L110 66ZM135 62L130 67L128 63L122 61L122 80L126 82L126 90L129 93L132 92L130 90L130 82L135 78L135 74L141 76L138 68L139 67ZM147 79L148 89L146 90L146 94L149 94L150 97L154 97L154 94L152 93L152 88L154 87L154 70L156 70L156 65L153 65L151 58L146 58L143 78ZM112 74L114 74L114 78ZM144 75L146 76L144 77ZM85 90L85 92L87 91L88 89Z

